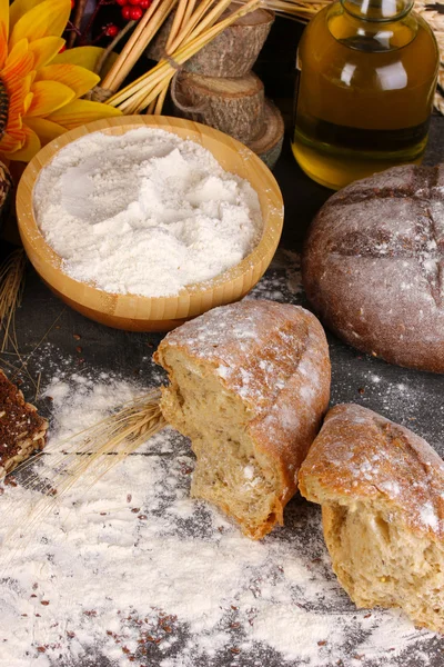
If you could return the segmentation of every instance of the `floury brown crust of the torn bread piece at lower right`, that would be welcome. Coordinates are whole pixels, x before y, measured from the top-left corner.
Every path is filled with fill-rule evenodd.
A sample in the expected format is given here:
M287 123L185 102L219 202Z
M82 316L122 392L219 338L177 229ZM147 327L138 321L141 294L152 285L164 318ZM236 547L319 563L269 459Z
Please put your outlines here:
M299 475L313 502L383 496L414 532L444 539L444 462L423 438L357 405L332 408Z

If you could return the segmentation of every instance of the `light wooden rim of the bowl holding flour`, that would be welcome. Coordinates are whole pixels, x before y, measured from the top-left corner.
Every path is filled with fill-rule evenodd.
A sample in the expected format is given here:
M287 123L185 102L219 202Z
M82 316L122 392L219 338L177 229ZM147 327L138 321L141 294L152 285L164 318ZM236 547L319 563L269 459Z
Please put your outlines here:
M194 141L199 145L202 145L202 141L200 141L200 137L203 136L204 138L213 140L216 143L221 143L221 146L223 146L224 149L229 148L229 150L231 151L234 150L236 152L241 152L244 156L245 161L252 162L254 166L254 170L260 173L264 185L263 191L268 193L266 199L269 203L265 211L266 215L264 216L264 210L261 201L261 196L263 197L263 192L258 192L258 186L254 187L254 185L251 182L246 175L241 176L241 178L244 178L250 182L252 188L258 192L258 196L261 201L261 212L264 227L262 237L258 246L255 246L255 248L253 248L253 250L234 267L226 269L225 271L219 273L210 280L189 285L182 288L180 292L172 296L170 295L164 297L145 297L129 292L109 292L99 289L91 283L82 282L72 278L62 270L62 258L46 241L42 232L40 231L37 225L33 211L33 190L37 180L40 176L40 171L68 143L71 143L72 141L75 141L77 139L90 135L92 132L102 131L104 133L111 135L123 135L127 131L138 129L141 127L152 127L158 129L164 129L165 131L172 131L173 133L184 139L190 139L191 141ZM218 160L218 162L220 162L218 155L214 155L214 152L206 146L204 146L204 148L210 150L210 152ZM232 171L232 173L235 172ZM53 139L44 148L42 148L37 153L37 156L34 156L34 158L29 162L20 179L17 190L17 218L20 235L26 236L27 241L32 246L33 251L43 260L43 263L50 265L53 269L59 271L61 276L63 276L65 285L69 287L69 289L63 290L67 295L71 291L71 289L75 290L77 286L81 286L84 295L82 302L88 302L90 300L89 295L94 295L95 297L99 295L103 297L119 299L123 308L125 303L128 303L128 307L131 308L131 303L134 299L140 300L139 303L141 305L144 303L145 308L151 308L154 303L165 303L169 300L175 300L176 302L189 301L191 297L195 295L202 296L202 298L204 298L215 288L223 288L225 286L229 286L231 282L238 280L244 273L246 273L252 266L262 262L269 255L270 245L275 243L278 246L279 243L279 239L281 237L283 228L283 199L274 176L272 175L270 169L264 165L264 162L262 162L262 160L246 146L221 132L220 130L215 130L199 122L172 118L168 116L123 116L93 121L73 130L69 130L64 135L61 135L57 139ZM143 308L143 310L145 310L145 308Z

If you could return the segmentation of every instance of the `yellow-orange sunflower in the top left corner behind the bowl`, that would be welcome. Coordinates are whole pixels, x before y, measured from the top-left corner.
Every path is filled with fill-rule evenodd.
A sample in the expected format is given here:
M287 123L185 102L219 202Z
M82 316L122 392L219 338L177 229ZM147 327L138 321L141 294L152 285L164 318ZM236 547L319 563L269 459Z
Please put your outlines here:
M70 0L0 0L0 157L28 162L42 146L92 120L119 116L79 99L97 86L102 49L60 52Z

